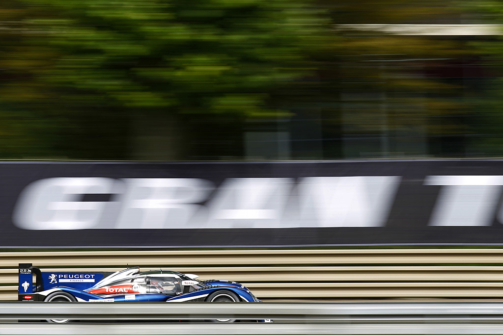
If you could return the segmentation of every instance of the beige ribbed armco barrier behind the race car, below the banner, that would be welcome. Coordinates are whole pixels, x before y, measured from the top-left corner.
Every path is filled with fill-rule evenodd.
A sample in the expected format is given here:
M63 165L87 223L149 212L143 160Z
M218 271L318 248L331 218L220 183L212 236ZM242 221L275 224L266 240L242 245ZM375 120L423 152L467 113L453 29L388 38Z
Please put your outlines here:
M18 263L46 271L164 269L229 279L264 301L503 298L503 249L129 250L0 253L0 300Z

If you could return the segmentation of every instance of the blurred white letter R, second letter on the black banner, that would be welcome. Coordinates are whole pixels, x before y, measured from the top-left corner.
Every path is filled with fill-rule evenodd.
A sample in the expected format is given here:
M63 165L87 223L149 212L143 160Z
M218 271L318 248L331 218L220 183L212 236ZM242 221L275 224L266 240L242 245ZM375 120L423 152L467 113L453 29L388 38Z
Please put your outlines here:
M190 228L187 224L214 189L195 178L123 179L126 193L116 229ZM197 227L199 228L199 227Z

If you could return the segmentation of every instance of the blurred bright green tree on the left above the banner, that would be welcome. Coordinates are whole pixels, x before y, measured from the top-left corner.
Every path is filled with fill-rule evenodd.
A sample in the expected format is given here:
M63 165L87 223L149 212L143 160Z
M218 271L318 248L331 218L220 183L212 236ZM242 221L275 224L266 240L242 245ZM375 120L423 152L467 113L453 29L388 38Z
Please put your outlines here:
M274 92L313 72L307 55L328 23L297 0L15 4L0 5L19 26L0 30L12 73L0 79L1 114L31 114L0 131L19 126L45 149L7 157L187 158L193 118L287 115Z

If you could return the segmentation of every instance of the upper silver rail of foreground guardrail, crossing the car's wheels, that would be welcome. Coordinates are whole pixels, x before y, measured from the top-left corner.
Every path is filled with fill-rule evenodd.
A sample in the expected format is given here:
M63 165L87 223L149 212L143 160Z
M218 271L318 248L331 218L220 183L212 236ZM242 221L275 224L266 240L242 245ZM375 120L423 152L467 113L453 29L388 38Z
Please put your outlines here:
M201 320L235 318L288 321L492 320L503 324L503 302L207 303L207 302L2 302L0 320ZM502 328L503 330L503 328Z

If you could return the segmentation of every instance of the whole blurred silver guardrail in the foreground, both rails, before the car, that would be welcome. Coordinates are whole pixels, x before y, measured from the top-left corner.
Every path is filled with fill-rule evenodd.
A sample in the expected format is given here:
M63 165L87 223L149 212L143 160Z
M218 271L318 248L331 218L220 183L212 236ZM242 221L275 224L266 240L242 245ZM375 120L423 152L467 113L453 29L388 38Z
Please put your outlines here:
M46 318L81 322L2 323L0 334L503 334L503 303L0 303L4 322ZM275 323L158 321L213 318Z

